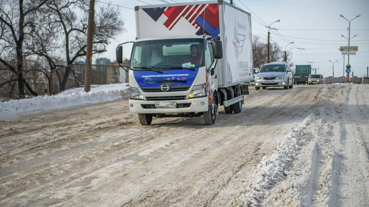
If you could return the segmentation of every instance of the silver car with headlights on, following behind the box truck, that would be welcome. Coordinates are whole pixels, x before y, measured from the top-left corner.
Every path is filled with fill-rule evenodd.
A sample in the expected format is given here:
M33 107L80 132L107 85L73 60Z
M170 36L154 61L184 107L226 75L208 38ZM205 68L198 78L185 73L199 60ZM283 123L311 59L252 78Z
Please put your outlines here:
M260 87L282 86L284 89L293 87L292 70L285 63L263 64L259 73L255 76L255 90Z

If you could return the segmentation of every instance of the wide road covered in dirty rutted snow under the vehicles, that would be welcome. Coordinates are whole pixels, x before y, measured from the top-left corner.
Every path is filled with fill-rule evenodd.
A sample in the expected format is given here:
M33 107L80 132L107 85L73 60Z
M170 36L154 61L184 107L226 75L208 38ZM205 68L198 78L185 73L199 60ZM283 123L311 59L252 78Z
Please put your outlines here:
M128 99L0 120L0 206L366 206L369 85L255 91L216 123Z

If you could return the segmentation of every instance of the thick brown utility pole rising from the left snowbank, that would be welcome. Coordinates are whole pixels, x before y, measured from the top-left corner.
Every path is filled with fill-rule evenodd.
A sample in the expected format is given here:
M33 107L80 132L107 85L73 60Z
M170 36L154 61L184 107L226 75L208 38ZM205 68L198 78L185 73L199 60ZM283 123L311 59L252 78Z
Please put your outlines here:
M85 91L91 89L91 65L92 65L92 44L94 31L94 11L95 0L90 0L89 21L87 25L87 47L86 47L86 67L85 67Z

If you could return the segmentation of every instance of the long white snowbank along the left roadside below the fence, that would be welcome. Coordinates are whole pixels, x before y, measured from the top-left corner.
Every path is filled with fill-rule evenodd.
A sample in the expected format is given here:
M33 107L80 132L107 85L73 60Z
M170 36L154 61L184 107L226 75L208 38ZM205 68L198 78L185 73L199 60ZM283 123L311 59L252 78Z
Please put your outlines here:
M35 113L49 109L68 108L89 103L113 101L128 97L128 84L92 85L90 92L83 87L72 88L52 96L0 102L0 119L22 113Z

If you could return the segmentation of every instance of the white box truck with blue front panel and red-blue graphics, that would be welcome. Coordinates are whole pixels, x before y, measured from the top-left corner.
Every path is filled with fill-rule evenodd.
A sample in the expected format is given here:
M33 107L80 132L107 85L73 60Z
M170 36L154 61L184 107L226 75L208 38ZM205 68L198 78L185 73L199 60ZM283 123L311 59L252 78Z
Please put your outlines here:
M219 105L241 112L241 84L254 80L249 13L218 0L137 6L135 15L129 108L142 125L201 115L214 124Z

